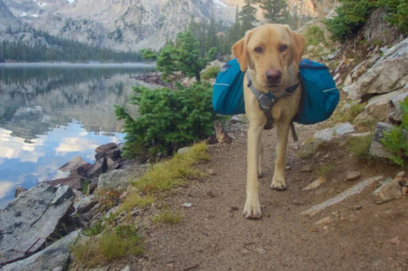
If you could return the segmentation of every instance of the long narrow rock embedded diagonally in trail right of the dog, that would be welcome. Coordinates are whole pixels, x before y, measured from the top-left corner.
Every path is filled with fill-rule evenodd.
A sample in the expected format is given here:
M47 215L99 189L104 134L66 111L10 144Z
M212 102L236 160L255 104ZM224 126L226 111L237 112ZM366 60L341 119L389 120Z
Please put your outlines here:
M302 211L300 215L302 216L314 216L315 214L319 213L320 211L326 209L327 207L330 207L332 205L335 205L341 201L344 201L344 199L348 198L349 196L353 196L355 194L360 194L363 192L365 188L367 188L369 185L372 185L373 183L376 183L376 181L380 181L384 179L382 176L377 176L377 177L372 177L369 179L365 179L364 181L360 181L356 185L352 186L351 188L348 188L348 190L341 192L334 198L329 198L327 201L324 201L323 203L314 205L313 207L307 209L306 211Z

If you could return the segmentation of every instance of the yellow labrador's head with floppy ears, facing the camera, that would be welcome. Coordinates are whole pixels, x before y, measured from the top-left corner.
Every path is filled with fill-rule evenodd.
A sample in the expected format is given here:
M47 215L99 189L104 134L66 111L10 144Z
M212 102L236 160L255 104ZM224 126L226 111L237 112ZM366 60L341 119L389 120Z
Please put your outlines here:
M297 77L305 44L304 37L289 26L266 24L247 31L232 46L232 53L241 70L248 69L256 89L280 94Z

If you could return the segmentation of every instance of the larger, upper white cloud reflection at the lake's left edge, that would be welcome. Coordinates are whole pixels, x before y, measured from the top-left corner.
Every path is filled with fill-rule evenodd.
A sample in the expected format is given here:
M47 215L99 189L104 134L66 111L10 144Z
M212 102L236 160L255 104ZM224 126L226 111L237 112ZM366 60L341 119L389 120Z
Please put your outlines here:
M43 144L44 140L32 140L33 143L24 142L24 138L11 135L12 131L0 128L0 164L5 159L20 159L21 162L38 162L38 158L44 156L37 146Z

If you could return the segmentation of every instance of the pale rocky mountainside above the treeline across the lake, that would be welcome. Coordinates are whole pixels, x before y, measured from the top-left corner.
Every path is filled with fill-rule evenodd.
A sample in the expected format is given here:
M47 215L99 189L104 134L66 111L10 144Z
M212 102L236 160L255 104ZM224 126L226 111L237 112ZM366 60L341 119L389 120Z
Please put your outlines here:
M311 18L317 16L313 2L322 1L333 0L288 4L291 12ZM4 5L14 15L10 21L18 18L54 36L127 51L159 49L189 25L191 16L199 21L213 15L228 25L243 0L0 0L1 10ZM8 18L2 16L0 25Z

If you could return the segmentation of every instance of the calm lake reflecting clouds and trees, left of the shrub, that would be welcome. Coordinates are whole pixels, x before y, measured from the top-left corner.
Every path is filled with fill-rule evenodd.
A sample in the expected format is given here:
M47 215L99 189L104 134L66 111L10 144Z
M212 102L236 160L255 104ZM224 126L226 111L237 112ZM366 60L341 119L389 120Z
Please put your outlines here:
M0 208L16 185L31 188L62 177L77 155L95 162L95 148L123 142L114 105L128 105L134 77L149 64L0 64ZM61 175L61 176L60 176Z

